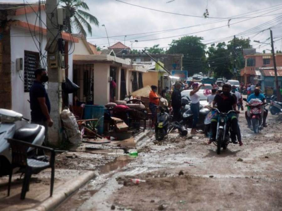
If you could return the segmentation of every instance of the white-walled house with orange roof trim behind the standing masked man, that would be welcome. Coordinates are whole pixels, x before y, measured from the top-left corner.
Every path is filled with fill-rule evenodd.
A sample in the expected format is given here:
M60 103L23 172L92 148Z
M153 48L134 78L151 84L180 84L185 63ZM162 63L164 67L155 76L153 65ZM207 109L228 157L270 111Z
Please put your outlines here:
M39 66L47 66L45 6L1 3L0 14L0 108L13 109L30 118L29 88L34 80L34 71ZM69 53L78 39L64 32L61 37L65 41L68 76L72 75L72 54ZM40 38L40 45L36 38Z

